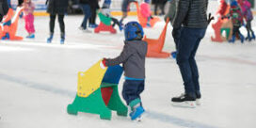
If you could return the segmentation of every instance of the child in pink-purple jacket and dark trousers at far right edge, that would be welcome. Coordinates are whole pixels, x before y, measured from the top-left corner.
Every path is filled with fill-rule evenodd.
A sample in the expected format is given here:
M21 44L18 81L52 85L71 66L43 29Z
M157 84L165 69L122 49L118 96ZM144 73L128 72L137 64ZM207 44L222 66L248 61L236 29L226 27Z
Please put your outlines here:
M248 30L248 37L246 38L246 40L255 40L255 35L253 30L251 29L251 21L253 20L253 15L252 12L250 10L250 3L248 2L248 0L244 0L243 1L243 5L241 7L243 9L243 15L245 20L247 21L246 27ZM250 36L251 33L251 36Z

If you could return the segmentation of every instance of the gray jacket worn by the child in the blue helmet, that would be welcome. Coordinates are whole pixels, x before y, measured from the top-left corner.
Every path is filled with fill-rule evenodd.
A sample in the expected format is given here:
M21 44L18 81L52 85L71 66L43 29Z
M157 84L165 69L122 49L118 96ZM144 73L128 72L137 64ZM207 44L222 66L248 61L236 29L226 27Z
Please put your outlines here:
M120 56L106 59L106 66L123 64L124 75L130 78L145 78L145 57L148 44L142 40L124 41L124 47Z

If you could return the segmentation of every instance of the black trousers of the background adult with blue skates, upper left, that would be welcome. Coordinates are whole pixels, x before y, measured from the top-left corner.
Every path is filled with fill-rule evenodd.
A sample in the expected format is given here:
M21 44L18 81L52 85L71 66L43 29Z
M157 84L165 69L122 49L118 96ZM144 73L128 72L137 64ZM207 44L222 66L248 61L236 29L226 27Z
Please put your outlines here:
M64 14L57 14L57 20L61 34L65 34ZM55 33L56 14L50 14L50 32Z

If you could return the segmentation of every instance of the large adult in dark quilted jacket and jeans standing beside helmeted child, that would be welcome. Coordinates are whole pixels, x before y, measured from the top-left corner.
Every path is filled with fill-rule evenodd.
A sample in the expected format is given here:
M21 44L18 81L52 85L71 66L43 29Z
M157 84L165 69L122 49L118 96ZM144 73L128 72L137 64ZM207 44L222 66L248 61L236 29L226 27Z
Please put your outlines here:
M177 64L184 80L185 93L172 98L173 104L195 107L195 101L201 97L195 56L208 25L207 7L208 0L178 1L172 35L178 44Z

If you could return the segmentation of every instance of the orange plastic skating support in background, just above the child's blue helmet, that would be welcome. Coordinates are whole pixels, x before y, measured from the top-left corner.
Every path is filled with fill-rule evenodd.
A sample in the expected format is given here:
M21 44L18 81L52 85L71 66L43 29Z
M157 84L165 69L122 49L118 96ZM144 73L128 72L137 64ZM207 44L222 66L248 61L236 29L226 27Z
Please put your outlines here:
M142 14L140 13L140 8L138 6L138 3L137 2L134 2L134 3L136 4L136 13L137 13L138 22L139 22L139 24L141 24L142 27L146 27L147 23L148 23L148 19L143 17ZM154 24L156 24L157 22L160 22L160 21L161 21L160 18L153 17L150 24L153 27Z

